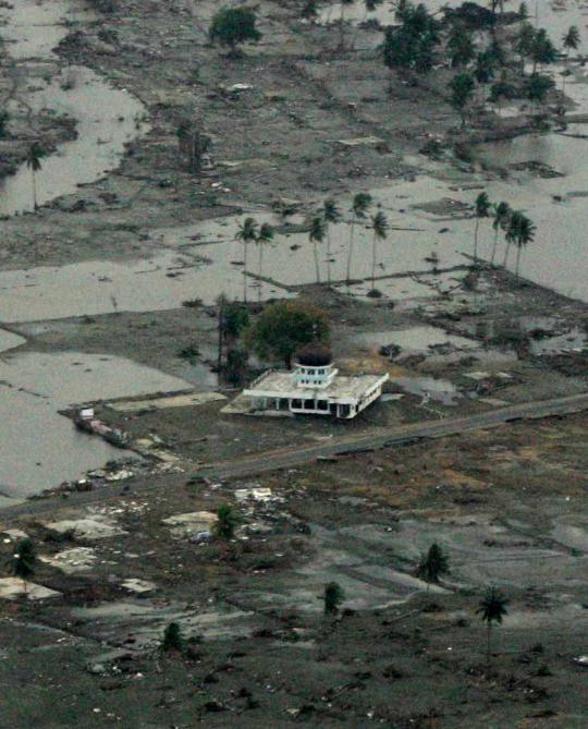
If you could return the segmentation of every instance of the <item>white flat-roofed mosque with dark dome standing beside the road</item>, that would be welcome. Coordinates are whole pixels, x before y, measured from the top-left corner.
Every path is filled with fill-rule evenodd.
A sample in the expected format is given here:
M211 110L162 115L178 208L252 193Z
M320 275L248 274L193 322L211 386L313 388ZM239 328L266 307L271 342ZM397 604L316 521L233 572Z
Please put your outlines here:
M343 377L331 353L307 349L298 353L293 372L269 370L243 391L258 410L352 418L377 400L388 375Z

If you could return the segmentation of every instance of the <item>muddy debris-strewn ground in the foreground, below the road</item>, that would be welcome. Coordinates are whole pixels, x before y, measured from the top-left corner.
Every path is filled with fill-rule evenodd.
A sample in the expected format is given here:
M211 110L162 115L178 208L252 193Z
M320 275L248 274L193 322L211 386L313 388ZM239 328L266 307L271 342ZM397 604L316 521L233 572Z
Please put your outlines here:
M138 478L101 507L12 523L56 594L2 602L4 720L584 726L586 425L519 423L247 483L168 476L148 497ZM222 502L241 520L229 544L205 536ZM433 540L451 573L427 591L415 566ZM331 580L338 620L321 616ZM487 668L475 609L490 583L510 603ZM172 621L181 655L158 649Z

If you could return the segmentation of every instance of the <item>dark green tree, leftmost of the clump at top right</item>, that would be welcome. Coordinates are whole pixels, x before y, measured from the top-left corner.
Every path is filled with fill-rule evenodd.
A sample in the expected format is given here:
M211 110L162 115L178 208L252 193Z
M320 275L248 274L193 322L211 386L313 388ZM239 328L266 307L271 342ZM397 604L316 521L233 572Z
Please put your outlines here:
M399 3L400 25L384 29L382 56L384 65L401 73L427 73L433 64L434 47L439 42L439 22L424 4Z

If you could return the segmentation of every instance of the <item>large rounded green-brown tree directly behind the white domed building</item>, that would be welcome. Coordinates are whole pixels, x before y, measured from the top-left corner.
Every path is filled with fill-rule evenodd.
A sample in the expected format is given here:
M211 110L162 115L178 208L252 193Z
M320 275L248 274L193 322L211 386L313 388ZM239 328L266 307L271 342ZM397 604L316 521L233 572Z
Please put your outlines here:
M287 369L294 354L314 340L329 342L327 315L296 301L270 304L246 332L246 342L258 356L281 360Z

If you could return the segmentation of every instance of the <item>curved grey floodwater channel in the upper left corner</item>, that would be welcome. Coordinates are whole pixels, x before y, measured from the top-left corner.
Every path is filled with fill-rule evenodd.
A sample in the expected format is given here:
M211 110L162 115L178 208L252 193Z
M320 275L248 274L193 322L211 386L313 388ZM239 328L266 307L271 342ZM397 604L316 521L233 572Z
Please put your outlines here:
M68 34L65 20L75 20L75 9L66 1L53 0L38 4L19 0L16 7L3 11L7 25L2 36L9 53L19 61L57 62L51 49ZM125 145L145 133L143 105L115 88L98 74L83 66L65 66L50 80L47 68L34 78L39 90L27 96L33 112L51 109L56 116L77 120L77 138L59 146L46 157L36 173L39 205L56 197L75 193L78 185L94 182L119 166ZM25 83L28 80L25 80ZM23 165L0 183L0 215L14 215L34 209L33 178Z

